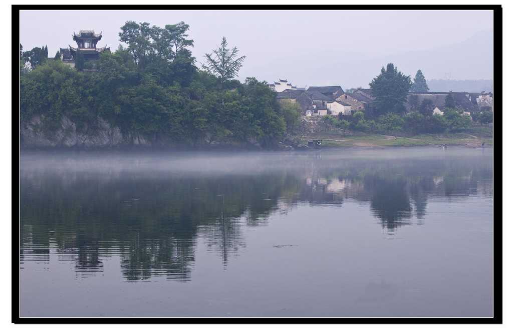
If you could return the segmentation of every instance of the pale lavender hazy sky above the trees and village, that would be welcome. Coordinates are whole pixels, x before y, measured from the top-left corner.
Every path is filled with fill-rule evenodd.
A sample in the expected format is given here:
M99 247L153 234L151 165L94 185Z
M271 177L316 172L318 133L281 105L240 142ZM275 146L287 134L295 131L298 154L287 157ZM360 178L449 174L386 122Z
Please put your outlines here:
M427 79L492 79L492 11L22 11L24 49L76 46L73 31L103 31L98 47L119 44L125 21L190 25L196 60L226 36L246 55L239 79L255 76L298 86L367 86L393 62Z

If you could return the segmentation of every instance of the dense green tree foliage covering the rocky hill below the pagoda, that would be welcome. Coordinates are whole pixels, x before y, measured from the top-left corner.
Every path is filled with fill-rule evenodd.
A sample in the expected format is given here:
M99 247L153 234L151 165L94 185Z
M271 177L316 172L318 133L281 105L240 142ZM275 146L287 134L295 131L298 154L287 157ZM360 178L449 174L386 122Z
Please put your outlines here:
M34 66L21 79L22 121L44 115L51 128L67 116L94 128L101 118L128 138L144 135L154 143L273 146L287 125L295 126L294 114L280 107L265 82L230 80L233 69L223 77L198 69L188 28L129 21L120 32L127 47L102 53L96 71L59 61Z

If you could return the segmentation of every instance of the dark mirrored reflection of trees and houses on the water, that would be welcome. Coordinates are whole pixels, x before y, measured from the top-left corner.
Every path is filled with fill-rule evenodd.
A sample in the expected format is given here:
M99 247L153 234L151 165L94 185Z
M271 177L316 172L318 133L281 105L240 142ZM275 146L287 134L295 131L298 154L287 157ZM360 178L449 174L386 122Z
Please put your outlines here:
M431 198L492 195L491 160L474 155L346 159L316 152L258 161L247 172L22 161L21 267L56 253L85 278L120 256L127 281L189 281L200 241L226 266L245 247L243 227L258 228L299 205L338 207L342 214L346 201L368 205L386 236L413 216L422 221Z

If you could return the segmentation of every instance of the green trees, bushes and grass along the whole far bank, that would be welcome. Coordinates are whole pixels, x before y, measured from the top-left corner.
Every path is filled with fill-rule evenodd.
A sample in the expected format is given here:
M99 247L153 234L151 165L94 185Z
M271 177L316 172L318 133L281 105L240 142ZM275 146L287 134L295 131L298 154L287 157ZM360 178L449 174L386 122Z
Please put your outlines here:
M127 21L114 52L76 68L48 48L20 44L23 149L302 150L323 147L492 145L491 110L464 112L445 101L443 114L429 103L407 112L408 91L427 91L393 64L369 86L368 113L307 117L298 103L277 100L267 82L235 78L245 55L225 37L200 60L184 22L164 28ZM80 65L80 66L79 66ZM350 89L349 89L350 90ZM312 126L315 129L312 129ZM397 135L396 135L397 134Z

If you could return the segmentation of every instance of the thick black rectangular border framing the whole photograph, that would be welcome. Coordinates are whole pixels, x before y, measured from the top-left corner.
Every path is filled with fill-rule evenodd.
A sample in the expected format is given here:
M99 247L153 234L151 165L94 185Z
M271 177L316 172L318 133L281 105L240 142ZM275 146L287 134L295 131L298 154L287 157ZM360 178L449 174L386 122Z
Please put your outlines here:
M21 10L492 10L494 12L494 317L20 317L19 316L19 11ZM12 322L84 324L502 324L502 6L501 5L12 5ZM14 101L18 101L15 104ZM14 198L16 200L14 200ZM16 230L18 232L16 232Z

